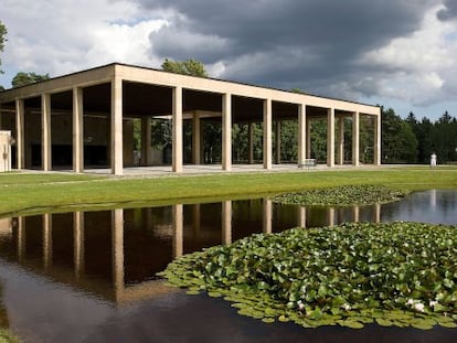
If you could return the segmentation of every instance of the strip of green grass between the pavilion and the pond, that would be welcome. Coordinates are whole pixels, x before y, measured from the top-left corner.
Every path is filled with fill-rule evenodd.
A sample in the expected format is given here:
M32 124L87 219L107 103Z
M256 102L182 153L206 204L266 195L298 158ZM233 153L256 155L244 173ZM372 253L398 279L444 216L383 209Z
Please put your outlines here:
M457 167L341 169L281 173L228 173L111 178L61 173L0 174L0 216L113 206L162 205L248 199L349 184L384 184L407 190L457 187Z

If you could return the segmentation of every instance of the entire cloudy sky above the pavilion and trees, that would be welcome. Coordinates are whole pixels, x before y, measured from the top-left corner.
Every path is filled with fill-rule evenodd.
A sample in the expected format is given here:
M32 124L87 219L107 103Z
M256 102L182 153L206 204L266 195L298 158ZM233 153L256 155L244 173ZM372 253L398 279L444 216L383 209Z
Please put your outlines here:
M0 85L123 62L457 117L456 0L0 0Z

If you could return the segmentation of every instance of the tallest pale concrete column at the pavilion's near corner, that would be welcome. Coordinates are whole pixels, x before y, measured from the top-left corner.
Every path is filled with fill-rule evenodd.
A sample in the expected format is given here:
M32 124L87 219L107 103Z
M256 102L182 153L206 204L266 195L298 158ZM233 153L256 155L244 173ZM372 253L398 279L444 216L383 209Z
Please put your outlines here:
M123 79L111 79L111 173L123 174L124 146L123 146Z

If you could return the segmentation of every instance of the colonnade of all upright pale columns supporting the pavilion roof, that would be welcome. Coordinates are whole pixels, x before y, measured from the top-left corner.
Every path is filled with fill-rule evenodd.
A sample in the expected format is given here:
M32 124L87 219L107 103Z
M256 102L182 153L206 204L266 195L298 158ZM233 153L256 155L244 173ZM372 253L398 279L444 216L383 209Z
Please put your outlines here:
M83 88L74 87L72 89L72 126L73 126L73 148L72 160L74 172L84 171L84 95ZM232 169L232 94L222 94L222 169L230 171ZM123 132L123 79L114 77L110 83L110 115L109 129L110 142L107 149L110 154L110 169L114 174L123 174L124 169L124 132ZM307 116L306 104L297 105L298 117L298 164L301 164L306 158L310 158L311 129L310 118ZM24 154L24 99L15 100L17 112L17 165L18 169L25 167ZM51 112L52 97L51 94L41 95L41 156L42 169L52 170L52 136L51 136ZM341 116L341 115L340 115ZM359 147L360 147L360 122L359 112L352 115L352 164L359 165ZM344 119L339 118L339 136L336 144L336 109L327 109L327 165L333 167L336 162L336 147L338 151L338 164L344 162ZM273 99L263 100L263 167L264 169L273 168ZM193 163L201 162L201 128L200 117L195 114L193 118ZM142 160L147 165L150 164L151 157L151 129L149 118L145 118L141 125L141 140L146 149L142 150ZM183 170L183 89L180 86L172 88L172 171L180 173ZM381 117L378 116L374 128L374 162L380 164L380 146L381 146ZM248 161L254 160L254 131L252 125L248 127ZM280 124L276 126L276 163L280 162Z

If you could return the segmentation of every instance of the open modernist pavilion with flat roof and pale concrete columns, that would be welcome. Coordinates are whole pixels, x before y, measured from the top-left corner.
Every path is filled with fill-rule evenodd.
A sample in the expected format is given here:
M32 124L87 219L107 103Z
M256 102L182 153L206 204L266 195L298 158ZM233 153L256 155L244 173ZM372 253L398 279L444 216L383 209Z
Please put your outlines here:
M281 120L297 120L297 163L310 158L310 121L327 122L327 165L343 164L350 147L360 164L360 118L373 125L373 164L381 163L381 110L378 106L272 88L201 78L114 63L0 93L0 130L10 131L12 167L72 170L93 167L121 175L134 167L134 120L141 121L141 165L153 165L151 120L171 119L171 171L184 168L183 124L192 124L191 163L201 164L202 124L222 126L222 170L232 169L232 125L248 125L248 162L253 162L252 125L262 124L263 168L280 163ZM344 144L344 119L352 122ZM276 122L274 126L273 124ZM273 135L273 128L276 135ZM338 133L338 135L337 135ZM337 137L336 137L337 136ZM275 147L275 156L273 153Z

